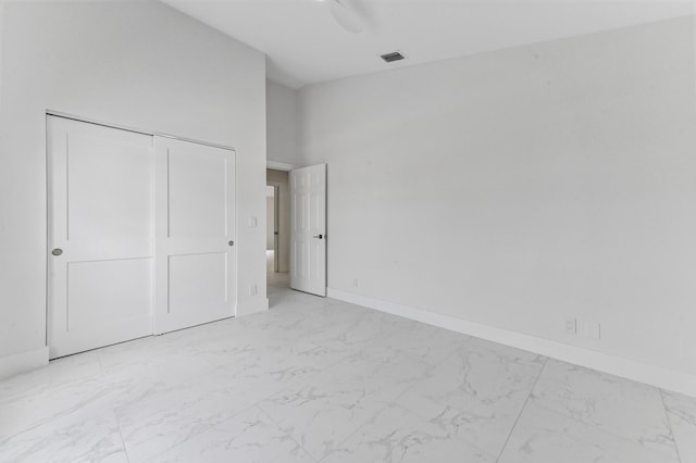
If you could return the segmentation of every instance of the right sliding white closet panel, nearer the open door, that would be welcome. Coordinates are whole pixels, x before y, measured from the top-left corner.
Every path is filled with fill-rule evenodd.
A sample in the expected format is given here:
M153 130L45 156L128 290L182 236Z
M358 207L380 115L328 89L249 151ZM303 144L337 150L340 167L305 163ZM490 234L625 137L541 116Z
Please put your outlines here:
M154 137L157 334L235 315L235 152Z

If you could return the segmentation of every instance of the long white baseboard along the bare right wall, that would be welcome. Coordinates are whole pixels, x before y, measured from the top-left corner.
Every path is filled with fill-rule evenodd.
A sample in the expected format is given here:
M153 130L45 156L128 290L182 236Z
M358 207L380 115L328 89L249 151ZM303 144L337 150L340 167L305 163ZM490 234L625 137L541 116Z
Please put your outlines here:
M450 329L481 339L498 342L513 348L538 353L551 359L609 373L624 378L652 385L662 389L696 397L696 375L675 370L649 365L622 356L584 349L563 342L552 341L536 336L496 328L495 326L469 322L451 315L428 312L407 305L395 304L378 299L360 296L340 289L327 288L327 296L340 301L350 302L393 315L415 320L428 325Z

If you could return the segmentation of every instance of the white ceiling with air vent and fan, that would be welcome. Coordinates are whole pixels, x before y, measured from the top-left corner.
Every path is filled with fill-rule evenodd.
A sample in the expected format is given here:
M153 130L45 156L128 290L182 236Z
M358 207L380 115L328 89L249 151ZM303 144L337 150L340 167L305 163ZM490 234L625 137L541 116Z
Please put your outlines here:
M670 0L338 0L364 23L355 34L332 16L336 0L164 1L266 53L269 78L295 88L694 11ZM407 59L380 59L395 50Z

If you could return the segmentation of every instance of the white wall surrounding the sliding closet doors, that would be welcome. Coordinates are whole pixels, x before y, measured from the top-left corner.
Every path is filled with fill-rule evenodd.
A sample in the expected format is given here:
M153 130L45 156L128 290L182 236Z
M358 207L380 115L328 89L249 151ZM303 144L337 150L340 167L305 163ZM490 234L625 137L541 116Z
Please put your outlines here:
M236 147L238 314L268 308L264 55L153 1L11 2L1 26L0 363L46 345L47 109Z

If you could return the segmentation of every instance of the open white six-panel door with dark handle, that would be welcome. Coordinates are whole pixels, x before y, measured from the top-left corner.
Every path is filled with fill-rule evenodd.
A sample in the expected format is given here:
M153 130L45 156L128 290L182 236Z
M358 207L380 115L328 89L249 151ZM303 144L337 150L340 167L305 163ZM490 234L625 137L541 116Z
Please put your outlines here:
M290 287L326 296L326 164L290 171Z

